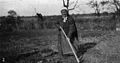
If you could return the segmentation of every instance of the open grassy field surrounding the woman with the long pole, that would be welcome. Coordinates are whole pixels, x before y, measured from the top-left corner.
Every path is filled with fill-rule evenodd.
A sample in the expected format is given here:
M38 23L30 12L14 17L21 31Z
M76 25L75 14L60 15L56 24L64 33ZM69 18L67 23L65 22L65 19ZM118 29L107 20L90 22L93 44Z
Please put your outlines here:
M81 63L119 63L120 32L115 31L110 16L74 16L79 35ZM15 32L0 33L0 61L3 63L77 63L74 56L60 58L57 53L58 30L54 22L58 17L46 17L44 29L26 25ZM24 18L25 21L34 19ZM48 22L49 21L49 22ZM118 20L119 21L119 20ZM52 23L52 24L51 24ZM28 27L26 29L26 27ZM92 45L94 43L94 45ZM88 44L88 45L85 45Z

